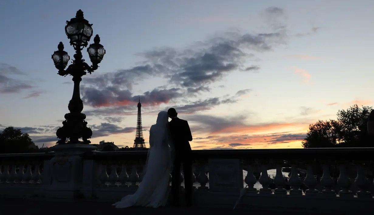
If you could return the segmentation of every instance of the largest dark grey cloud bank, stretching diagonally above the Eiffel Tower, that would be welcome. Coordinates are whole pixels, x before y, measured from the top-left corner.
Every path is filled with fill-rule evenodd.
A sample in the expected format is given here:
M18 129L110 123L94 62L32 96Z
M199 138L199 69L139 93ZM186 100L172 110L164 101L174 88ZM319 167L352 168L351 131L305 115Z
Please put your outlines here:
M184 50L155 48L138 54L144 58L138 66L85 78L82 99L93 107L130 105L138 100L138 95L131 92L132 85L156 76L168 80L168 87L140 95L143 104L159 105L196 97L233 71L258 70L258 66L245 67L245 61L256 52L272 51L287 39L284 30L258 34L237 31L197 42L196 46Z

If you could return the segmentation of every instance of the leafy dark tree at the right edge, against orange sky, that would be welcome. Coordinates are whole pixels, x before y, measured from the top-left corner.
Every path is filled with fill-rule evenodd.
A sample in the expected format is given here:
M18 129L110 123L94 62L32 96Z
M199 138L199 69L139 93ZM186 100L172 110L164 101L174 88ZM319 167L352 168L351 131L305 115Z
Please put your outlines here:
M357 104L347 110L339 110L337 120L321 121L309 125L304 148L374 147L368 135L367 120L373 108Z

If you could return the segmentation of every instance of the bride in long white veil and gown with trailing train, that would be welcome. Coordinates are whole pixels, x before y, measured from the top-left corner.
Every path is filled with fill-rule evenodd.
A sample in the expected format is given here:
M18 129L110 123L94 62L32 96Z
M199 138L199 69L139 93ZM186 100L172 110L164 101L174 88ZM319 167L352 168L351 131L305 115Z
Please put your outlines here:
M151 126L149 145L139 188L134 194L127 195L114 203L116 208L131 206L157 208L166 205L172 170L171 150L174 149L168 129L168 112L161 111L157 116L156 124Z

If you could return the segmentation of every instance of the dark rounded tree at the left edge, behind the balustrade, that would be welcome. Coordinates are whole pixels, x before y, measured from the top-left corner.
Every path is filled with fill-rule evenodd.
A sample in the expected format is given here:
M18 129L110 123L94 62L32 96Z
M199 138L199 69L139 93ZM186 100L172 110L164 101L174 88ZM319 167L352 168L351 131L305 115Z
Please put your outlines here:
M36 152L30 148L33 145L28 133L22 134L20 129L7 127L0 133L0 154Z

